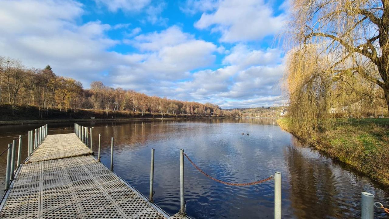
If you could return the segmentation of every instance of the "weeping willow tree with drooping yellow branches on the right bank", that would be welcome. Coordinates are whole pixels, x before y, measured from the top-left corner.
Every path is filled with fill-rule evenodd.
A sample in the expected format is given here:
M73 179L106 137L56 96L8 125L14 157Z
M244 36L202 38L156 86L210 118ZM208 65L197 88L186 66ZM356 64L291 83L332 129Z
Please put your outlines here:
M389 0L291 0L284 79L296 132L325 129L331 108L357 100L389 108L388 35Z

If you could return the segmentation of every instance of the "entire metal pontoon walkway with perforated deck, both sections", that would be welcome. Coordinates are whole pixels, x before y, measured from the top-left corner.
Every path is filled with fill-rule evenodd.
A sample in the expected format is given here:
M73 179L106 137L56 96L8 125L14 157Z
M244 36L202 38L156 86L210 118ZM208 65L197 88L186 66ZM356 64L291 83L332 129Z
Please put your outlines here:
M0 218L181 218L150 203L91 154L76 134L48 135L16 172Z

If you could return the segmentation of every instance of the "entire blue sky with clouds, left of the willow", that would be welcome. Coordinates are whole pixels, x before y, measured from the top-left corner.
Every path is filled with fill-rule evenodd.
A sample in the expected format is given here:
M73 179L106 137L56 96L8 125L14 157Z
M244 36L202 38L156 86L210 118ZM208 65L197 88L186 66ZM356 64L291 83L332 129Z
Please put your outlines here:
M223 109L279 106L282 0L0 0L0 55Z

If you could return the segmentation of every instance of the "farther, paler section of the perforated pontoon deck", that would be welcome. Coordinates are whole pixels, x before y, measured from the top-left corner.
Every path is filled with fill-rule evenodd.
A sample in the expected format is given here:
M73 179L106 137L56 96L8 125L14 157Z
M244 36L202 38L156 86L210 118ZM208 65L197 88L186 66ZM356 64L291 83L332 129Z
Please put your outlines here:
M92 150L86 147L74 133L52 134L46 136L45 140L28 157L26 163L91 155L92 153Z

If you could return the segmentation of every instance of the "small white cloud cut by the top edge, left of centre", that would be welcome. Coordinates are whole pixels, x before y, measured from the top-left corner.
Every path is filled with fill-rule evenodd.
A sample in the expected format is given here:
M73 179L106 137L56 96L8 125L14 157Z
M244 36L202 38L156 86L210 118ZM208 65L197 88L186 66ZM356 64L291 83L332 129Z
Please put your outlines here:
M96 4L104 5L109 11L116 12L121 9L124 12L140 11L150 4L151 0L95 0Z

